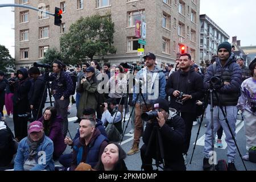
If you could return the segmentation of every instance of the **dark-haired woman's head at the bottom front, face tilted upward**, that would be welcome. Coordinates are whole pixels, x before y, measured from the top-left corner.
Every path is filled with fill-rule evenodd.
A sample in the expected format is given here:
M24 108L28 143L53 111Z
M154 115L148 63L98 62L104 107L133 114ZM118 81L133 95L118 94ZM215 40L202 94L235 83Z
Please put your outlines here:
M99 171L127 171L125 158L126 152L123 151L122 147L117 143L109 142L94 169Z

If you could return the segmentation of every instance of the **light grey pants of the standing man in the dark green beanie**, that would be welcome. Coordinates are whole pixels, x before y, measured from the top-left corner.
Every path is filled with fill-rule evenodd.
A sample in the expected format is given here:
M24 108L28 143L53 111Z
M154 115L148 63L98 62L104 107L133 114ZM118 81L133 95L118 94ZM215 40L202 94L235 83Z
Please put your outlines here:
M224 111L226 110L226 118L228 119L230 128L234 137L236 138L236 122L237 122L237 107L236 106L223 106ZM206 110L206 118L208 120L207 131L205 132L205 140L204 140L204 154L208 155L212 150L212 130L210 129L210 105L208 105ZM217 130L222 126L224 133L226 135L226 143L228 144L228 162L230 163L232 160L236 158L236 144L230 134L228 124L226 123L224 116L220 107L213 107L213 137L216 135Z

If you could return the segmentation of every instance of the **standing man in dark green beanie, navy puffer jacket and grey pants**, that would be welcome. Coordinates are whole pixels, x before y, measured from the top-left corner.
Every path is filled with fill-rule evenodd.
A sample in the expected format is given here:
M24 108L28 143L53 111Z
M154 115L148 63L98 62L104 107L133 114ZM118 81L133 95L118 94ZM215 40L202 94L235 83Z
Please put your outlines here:
M215 136L216 131L222 126L225 135L226 143L228 144L228 169L230 171L236 170L234 165L234 160L236 158L236 144L232 139L229 127L225 122L225 117L222 114L220 106L223 107L228 119L229 126L233 132L234 137L236 137L236 122L237 122L237 101L241 95L240 85L242 82L242 71L240 66L236 63L236 57L232 53L232 47L230 43L224 42L218 46L218 58L216 59L216 64L212 64L207 69L207 73L204 77L204 88L209 89L209 81L213 76L219 77L221 82L219 84L214 84L213 87L216 90L216 94L213 94L213 136ZM210 101L208 101L208 107L206 109L207 113L210 113ZM206 115L208 121L210 122L210 114ZM208 123L207 131L205 132L205 146L204 146L204 160L203 169L207 170L210 168L209 164L209 152L212 148L212 134L211 125Z

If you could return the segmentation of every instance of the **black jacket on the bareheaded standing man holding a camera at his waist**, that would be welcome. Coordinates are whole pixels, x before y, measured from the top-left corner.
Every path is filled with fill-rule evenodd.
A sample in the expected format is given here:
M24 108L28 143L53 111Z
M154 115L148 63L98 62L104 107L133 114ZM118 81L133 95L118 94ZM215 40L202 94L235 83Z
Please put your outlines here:
M175 90L191 95L192 99L185 101L183 105L177 103L177 97L173 95ZM196 101L204 95L203 78L193 69L190 69L189 72L176 71L168 78L166 93L167 96L171 96L172 108L179 112L195 113Z

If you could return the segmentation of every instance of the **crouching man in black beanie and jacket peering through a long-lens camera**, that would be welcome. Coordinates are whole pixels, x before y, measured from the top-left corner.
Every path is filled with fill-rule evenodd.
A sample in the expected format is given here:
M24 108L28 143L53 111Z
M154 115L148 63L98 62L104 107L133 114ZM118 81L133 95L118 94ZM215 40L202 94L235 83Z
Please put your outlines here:
M149 139L154 125L158 125L160 136L162 138L164 153L164 170L185 171L183 159L183 143L185 138L185 123L183 119L174 111L169 110L168 101L158 98L154 104L154 111L158 111L157 116L146 124L143 134L143 146L141 147L142 168L144 171L152 171L152 159L156 156L155 143L149 143ZM151 145L149 145L151 144ZM147 148L149 154L146 156Z

